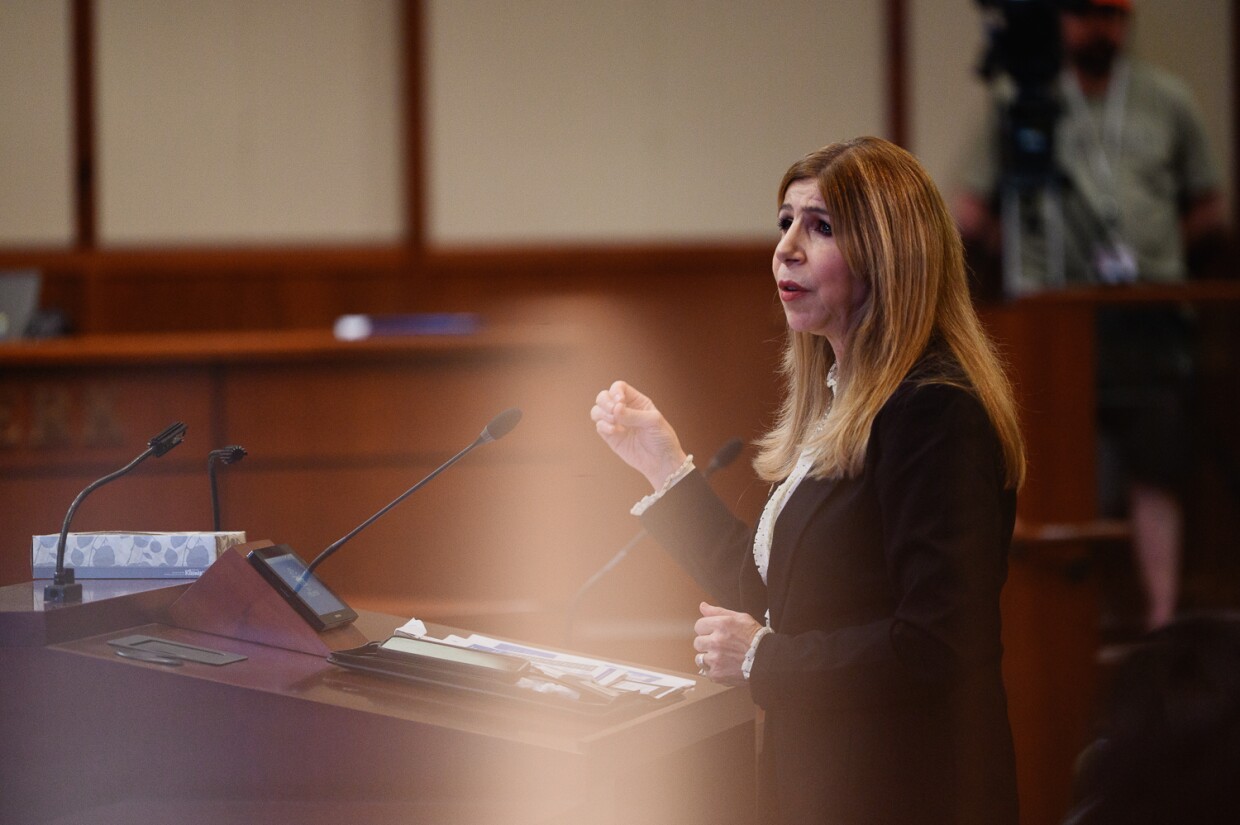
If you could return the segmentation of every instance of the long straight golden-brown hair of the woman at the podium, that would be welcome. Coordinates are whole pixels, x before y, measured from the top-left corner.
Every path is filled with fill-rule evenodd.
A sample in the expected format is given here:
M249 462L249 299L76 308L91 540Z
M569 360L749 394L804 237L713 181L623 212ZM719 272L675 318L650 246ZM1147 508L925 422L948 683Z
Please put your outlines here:
M1025 463L1012 387L973 311L960 232L934 181L911 154L880 138L832 144L796 161L779 202L801 180L817 181L844 263L869 294L835 393L826 383L831 344L789 330L785 395L775 426L758 442L759 476L785 478L802 447L817 455L816 478L858 475L879 409L924 355L937 352L918 381L977 397L1003 447L1007 485L1018 488Z

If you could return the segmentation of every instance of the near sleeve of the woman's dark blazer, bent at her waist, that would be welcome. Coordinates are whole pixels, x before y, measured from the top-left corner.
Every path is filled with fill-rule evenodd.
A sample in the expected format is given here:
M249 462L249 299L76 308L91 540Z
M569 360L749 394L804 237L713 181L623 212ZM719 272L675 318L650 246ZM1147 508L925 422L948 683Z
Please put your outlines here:
M764 707L813 696L899 700L997 664L1011 493L981 406L944 386L905 386L874 423L867 473L882 510L890 617L836 630L771 633L749 684Z

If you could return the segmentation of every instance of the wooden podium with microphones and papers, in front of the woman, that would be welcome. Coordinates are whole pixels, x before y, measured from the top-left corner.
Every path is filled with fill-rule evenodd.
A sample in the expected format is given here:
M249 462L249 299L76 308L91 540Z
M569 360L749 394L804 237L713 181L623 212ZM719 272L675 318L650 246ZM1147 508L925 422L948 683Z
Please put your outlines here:
M237 578L241 568L223 564L219 581L190 586L89 581L73 605L45 605L31 583L0 588L0 821L753 819L745 691L698 681L681 701L620 721L517 711L339 669L284 638L260 644L176 627L203 592ZM269 608L242 614L253 624ZM358 614L351 630L362 639L403 623ZM117 656L108 643L131 634L246 659L166 666Z

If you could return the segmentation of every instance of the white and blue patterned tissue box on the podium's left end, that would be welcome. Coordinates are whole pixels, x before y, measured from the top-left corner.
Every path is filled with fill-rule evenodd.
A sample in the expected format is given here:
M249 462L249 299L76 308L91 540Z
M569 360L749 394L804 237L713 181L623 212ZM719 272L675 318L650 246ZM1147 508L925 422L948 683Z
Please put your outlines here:
M33 578L56 572L60 533L33 537ZM198 578L244 532L71 532L64 567L74 578Z

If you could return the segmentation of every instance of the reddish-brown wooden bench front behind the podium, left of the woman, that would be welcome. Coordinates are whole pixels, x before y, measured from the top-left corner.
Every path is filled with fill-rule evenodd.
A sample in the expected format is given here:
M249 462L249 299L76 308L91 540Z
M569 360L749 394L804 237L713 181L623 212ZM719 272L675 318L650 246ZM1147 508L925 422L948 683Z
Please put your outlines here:
M124 418L125 430L107 449L83 452L71 440L52 457L26 443L0 452L0 483L14 490L5 524L11 536L55 532L77 490L140 452L165 417L180 417L190 423L186 444L161 459L157 474L143 466L94 494L76 527L103 526L95 499L125 502L108 526L138 528L145 511L157 510L181 525L160 528L205 527L206 452L238 443L250 455L218 468L224 526L310 557L515 406L525 418L512 435L376 522L324 574L351 600L409 615L424 605L554 613L636 528L626 510L646 491L594 434L594 395L614 378L632 381L658 399L702 460L729 437L751 439L775 397L779 316L768 292L765 277L686 275L671 292L619 300L491 295L503 304L497 314L522 320L484 321L480 335L466 337L341 345L306 330L19 345L0 352L4 397L26 398L43 385L74 397L99 387L124 397L110 414ZM720 350L720 334L704 334L703 319L737 346ZM144 407L149 398L157 403ZM27 407L14 407L17 432L30 428ZM763 488L743 465L718 484L738 510L755 514ZM169 485L179 494L172 500L159 493ZM19 506L10 510L10 501ZM0 558L4 581L29 576L25 541L12 540ZM635 553L591 595L598 600L583 622L649 613L689 620L701 598L657 552ZM554 622L548 627L558 634Z

